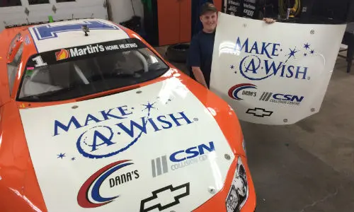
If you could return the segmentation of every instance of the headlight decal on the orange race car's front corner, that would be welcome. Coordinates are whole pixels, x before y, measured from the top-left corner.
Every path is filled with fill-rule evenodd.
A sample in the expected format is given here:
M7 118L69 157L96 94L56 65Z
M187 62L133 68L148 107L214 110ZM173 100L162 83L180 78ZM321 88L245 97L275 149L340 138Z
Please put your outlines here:
M241 157L237 159L236 171L232 178L232 184L227 194L226 208L227 212L239 212L246 204L249 196L249 185L247 183L246 169L242 163Z

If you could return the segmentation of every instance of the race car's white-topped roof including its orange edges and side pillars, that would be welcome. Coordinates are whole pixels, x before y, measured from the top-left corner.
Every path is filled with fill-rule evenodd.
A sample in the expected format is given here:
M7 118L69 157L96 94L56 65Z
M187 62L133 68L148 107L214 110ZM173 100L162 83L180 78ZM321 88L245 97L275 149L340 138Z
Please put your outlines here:
M89 28L89 36L85 36L81 29L83 25ZM6 64L12 61L13 55L9 55L11 41L20 35L16 48L23 46L23 61L35 54L50 52L58 49L67 49L79 46L95 45L103 42L128 40L137 38L144 45L151 47L137 33L122 25L109 20L98 18L86 18L76 20L57 20L52 23L28 23L25 25L13 25L0 31L0 69L6 70ZM154 49L152 50L158 54ZM7 102L8 76L7 71L0 71L0 105ZM14 89L11 95L15 95L23 72L18 72Z

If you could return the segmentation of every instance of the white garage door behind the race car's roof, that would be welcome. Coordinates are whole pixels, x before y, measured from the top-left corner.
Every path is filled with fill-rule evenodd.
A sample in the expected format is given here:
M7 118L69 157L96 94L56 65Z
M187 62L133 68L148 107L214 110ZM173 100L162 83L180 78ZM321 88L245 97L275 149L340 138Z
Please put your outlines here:
M105 0L0 0L0 30L6 25L72 18L108 20Z

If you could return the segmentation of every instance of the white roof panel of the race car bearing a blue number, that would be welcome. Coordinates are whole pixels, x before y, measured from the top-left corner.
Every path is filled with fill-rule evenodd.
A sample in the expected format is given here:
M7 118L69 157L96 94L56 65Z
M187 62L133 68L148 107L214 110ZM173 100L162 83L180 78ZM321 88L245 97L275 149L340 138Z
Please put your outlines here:
M88 36L83 25L89 29ZM33 25L28 30L38 53L130 37L119 25L96 18Z

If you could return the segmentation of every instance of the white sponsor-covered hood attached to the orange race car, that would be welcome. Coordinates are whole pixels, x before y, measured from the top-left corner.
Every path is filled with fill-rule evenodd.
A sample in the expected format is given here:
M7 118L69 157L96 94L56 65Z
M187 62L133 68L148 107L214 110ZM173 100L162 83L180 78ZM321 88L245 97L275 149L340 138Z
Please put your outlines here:
M20 114L48 211L193 211L234 160L178 78Z

